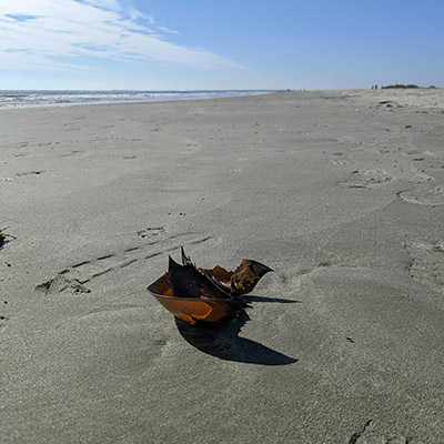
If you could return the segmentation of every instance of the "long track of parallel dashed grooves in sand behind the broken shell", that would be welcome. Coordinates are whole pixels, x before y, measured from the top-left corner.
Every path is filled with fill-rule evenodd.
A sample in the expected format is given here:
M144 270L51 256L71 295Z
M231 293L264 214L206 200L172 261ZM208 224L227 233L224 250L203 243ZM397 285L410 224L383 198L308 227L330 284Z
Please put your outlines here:
M107 276L108 273L179 250L181 245L199 244L213 239L198 232L162 235L164 233L165 229L162 226L141 230L137 233L143 240L139 245L74 263L49 281L36 285L36 290L44 294L90 293L88 284Z

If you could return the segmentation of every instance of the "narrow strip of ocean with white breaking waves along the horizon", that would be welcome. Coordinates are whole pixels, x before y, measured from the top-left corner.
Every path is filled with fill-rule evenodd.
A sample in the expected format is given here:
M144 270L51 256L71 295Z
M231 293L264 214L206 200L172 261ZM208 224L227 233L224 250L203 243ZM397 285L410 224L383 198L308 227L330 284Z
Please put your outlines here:
M231 91L0 91L0 110L121 102L162 102L266 94L271 90Z

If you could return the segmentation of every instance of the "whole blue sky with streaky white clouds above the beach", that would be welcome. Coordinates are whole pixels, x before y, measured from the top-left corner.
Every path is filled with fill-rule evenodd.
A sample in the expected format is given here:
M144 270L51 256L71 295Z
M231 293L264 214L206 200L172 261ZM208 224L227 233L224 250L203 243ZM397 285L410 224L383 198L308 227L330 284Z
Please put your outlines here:
M443 0L1 0L0 90L444 87Z

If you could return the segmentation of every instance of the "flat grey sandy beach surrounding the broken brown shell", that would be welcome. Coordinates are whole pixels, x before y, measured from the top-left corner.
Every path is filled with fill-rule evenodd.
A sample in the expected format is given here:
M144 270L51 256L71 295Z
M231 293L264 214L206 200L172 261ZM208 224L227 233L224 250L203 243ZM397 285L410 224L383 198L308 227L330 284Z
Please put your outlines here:
M0 112L2 443L443 443L444 93ZM275 270L219 330L179 246ZM242 327L242 331L241 331Z

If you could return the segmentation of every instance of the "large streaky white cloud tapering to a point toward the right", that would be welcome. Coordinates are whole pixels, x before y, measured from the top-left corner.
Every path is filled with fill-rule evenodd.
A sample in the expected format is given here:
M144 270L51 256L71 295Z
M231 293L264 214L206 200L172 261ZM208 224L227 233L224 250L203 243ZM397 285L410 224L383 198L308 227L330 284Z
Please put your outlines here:
M4 4L7 3L7 4ZM20 0L0 3L3 69L82 69L82 57L176 63L192 68L239 64L204 49L170 43L151 16L117 0Z

